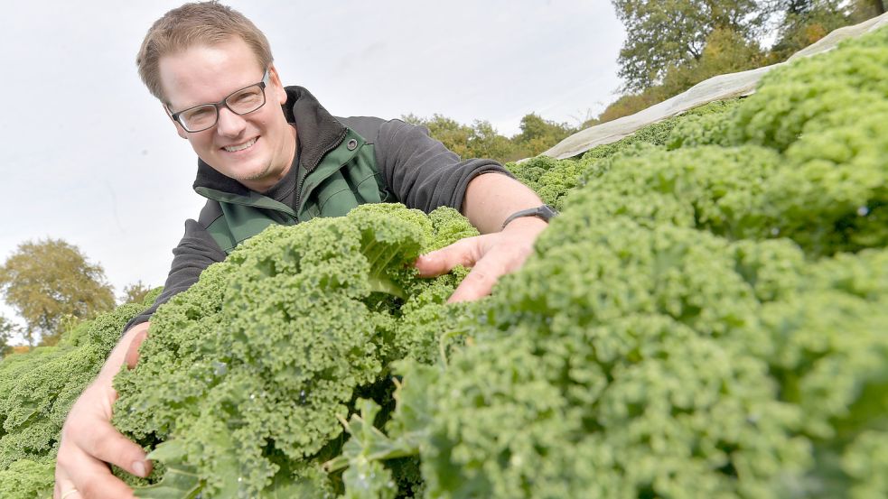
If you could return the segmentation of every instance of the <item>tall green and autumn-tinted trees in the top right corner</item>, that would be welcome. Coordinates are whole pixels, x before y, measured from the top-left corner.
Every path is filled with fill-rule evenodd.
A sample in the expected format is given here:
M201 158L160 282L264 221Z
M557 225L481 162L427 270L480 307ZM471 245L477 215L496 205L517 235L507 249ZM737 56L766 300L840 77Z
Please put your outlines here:
M635 114L705 79L782 62L837 28L885 12L881 0L705 4L614 2L630 32L620 59L626 92L598 116L600 123ZM715 14L707 16L710 9ZM763 32L776 32L771 47L759 46Z

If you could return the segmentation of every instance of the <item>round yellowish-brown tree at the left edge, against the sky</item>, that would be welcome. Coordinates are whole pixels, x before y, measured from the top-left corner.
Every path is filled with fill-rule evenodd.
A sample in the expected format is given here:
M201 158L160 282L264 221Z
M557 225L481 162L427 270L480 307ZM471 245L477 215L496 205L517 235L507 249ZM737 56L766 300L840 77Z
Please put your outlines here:
M63 319L89 319L114 308L114 293L98 263L61 239L19 245L0 267L5 301L24 319L24 336L54 337Z

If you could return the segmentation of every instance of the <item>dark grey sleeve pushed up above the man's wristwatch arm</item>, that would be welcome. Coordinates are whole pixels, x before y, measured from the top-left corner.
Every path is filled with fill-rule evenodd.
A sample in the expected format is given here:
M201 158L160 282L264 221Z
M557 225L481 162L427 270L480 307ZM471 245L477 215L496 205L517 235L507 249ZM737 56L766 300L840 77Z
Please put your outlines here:
M441 206L462 212L466 187L482 173L496 172L514 178L493 160L461 160L430 137L425 126L400 120L379 127L376 159L383 179L397 199L426 213Z

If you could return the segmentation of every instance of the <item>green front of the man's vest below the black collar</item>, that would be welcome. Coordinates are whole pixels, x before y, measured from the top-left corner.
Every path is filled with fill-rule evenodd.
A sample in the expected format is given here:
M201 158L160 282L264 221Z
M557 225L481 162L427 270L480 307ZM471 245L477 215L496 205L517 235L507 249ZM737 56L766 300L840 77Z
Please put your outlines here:
M243 196L195 188L201 196L219 202L221 216L207 226L207 232L225 254L272 224L292 226L314 217L341 217L358 205L393 199L381 179L373 144L351 128L313 170L305 171L302 165L300 170L295 211L253 191Z

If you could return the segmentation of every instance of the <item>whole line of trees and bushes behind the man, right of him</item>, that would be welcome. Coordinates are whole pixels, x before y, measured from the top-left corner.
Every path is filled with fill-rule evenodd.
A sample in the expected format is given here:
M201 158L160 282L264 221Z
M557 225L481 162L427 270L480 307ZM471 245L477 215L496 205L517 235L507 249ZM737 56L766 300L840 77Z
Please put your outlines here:
M618 59L620 95L603 112L569 125L536 114L506 137L487 121L402 116L425 125L463 158L512 162L536 156L592 125L629 116L716 75L775 64L842 26L888 9L888 0L612 0L626 29Z

